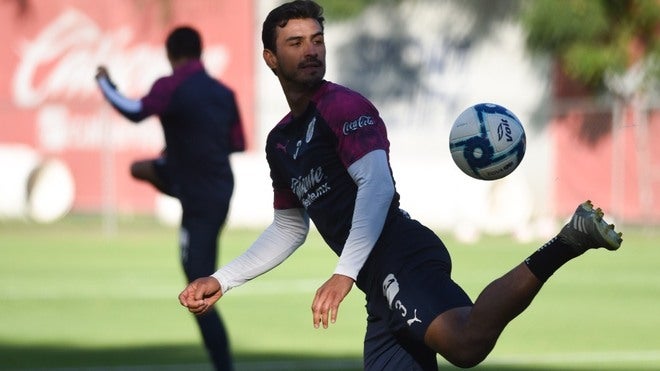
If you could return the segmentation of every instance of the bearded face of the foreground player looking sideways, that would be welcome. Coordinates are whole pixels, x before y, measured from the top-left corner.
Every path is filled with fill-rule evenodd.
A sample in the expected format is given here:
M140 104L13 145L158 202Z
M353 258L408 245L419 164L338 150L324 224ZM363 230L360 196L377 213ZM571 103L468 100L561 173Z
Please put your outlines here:
M313 85L325 75L325 42L319 23L311 18L291 19L277 32L277 53L266 57L280 80ZM270 60L269 60L270 59Z

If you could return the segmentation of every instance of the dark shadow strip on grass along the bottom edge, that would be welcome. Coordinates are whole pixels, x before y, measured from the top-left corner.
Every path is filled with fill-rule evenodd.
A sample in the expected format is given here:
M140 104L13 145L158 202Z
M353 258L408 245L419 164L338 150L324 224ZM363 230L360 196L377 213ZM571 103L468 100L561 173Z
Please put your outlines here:
M356 357L286 353L238 353L235 357L235 371L362 370L362 360ZM440 366L440 370L458 369L447 364ZM473 369L486 371L560 370L560 368L530 365L499 364L484 364ZM212 367L208 363L203 349L198 345L81 348L66 345L0 344L0 370L212 371ZM591 371L582 368L580 370Z

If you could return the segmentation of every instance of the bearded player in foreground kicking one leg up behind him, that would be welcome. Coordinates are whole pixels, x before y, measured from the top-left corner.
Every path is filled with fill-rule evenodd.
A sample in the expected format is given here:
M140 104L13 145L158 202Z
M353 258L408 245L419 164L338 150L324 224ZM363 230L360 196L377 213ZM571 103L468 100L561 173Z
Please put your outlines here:
M555 238L472 302L452 280L440 238L399 209L378 111L324 80L323 22L316 3L298 0L275 8L263 23L263 58L291 109L266 142L274 220L242 255L190 283L179 301L196 314L210 310L228 290L298 248L309 217L339 257L312 301L315 327L335 322L355 284L367 302L366 370L437 370L436 354L475 366L560 266L588 249L619 248L621 235L585 202Z

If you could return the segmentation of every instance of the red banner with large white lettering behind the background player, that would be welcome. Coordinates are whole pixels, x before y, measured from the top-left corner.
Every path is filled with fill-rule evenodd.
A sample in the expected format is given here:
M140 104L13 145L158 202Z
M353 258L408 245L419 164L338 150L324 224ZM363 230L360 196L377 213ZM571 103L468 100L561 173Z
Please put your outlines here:
M236 92L251 147L253 13L252 1L231 0L0 2L0 193L5 203L30 197L32 184L18 179L26 172L16 162L28 150L42 163L54 159L69 170L74 210L95 212L104 205L125 212L152 210L156 192L132 180L128 169L131 161L163 148L160 123L154 117L135 125L120 117L102 99L94 74L105 65L122 93L142 97L156 78L171 73L164 41L176 26L195 27L202 35L206 68ZM28 194L10 195L11 182L25 182L14 188L27 187Z

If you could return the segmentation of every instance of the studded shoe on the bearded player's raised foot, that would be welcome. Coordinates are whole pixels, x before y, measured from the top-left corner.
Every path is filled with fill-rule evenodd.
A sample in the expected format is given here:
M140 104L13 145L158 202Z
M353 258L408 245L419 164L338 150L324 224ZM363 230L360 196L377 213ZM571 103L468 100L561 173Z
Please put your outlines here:
M603 215L600 208L594 209L591 201L583 202L577 207L568 224L561 229L559 237L580 254L599 247L616 250L623 242L623 234L614 230L614 224L607 224Z

